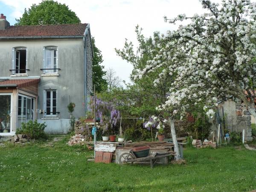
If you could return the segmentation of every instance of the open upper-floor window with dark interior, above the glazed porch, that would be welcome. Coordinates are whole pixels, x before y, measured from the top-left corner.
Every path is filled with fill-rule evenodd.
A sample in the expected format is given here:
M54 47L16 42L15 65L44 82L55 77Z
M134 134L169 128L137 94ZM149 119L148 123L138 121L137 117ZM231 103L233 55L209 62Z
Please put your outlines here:
M26 73L27 69L27 48L13 48L12 74Z

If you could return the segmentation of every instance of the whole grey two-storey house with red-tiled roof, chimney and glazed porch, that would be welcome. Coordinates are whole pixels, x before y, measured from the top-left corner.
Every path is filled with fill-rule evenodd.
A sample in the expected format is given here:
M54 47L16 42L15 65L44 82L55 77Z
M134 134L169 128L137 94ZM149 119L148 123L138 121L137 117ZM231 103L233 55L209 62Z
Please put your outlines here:
M84 116L93 92L93 46L89 23L10 26L0 17L0 135L21 122L46 122L48 134L70 129Z

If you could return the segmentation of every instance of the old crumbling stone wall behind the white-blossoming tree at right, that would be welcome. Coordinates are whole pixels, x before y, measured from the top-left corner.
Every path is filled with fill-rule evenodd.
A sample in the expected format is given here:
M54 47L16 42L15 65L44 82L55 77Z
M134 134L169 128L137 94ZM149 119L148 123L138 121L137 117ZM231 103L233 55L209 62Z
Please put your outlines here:
M255 126L256 120L247 110L243 101L240 99L227 99L224 102L219 102L218 108L214 108L214 110L217 110L217 115L209 119L212 126L210 127L208 138L203 138L203 140L212 140L212 132L214 132L215 139L217 139L219 122L221 124L220 136L223 136L223 138L225 137L226 131L229 133L242 133L244 130L244 140L253 140L252 124ZM184 133L186 134L186 127L193 122L194 119L189 113L186 116L186 120L175 120L177 136L184 137ZM240 136L242 137L242 134L240 134Z

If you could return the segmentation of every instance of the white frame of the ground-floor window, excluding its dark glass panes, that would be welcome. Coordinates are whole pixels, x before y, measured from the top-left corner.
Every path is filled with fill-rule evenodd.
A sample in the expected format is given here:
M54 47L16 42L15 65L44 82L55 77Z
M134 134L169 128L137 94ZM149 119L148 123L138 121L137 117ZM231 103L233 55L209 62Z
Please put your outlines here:
M56 92L56 99L53 99L53 92ZM50 92L50 113L47 114L47 92ZM56 114L53 114L53 103L56 102ZM44 90L44 117L57 116L58 109L58 91L57 90Z

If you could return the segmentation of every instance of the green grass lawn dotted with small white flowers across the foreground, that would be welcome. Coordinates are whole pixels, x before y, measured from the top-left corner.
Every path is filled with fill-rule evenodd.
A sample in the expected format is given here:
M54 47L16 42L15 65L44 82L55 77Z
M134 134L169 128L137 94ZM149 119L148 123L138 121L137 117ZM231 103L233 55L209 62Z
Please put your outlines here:
M120 166L87 162L68 137L45 143L0 146L0 191L187 192L256 189L256 151L242 146L186 148L186 164Z

